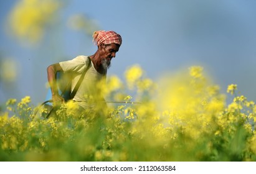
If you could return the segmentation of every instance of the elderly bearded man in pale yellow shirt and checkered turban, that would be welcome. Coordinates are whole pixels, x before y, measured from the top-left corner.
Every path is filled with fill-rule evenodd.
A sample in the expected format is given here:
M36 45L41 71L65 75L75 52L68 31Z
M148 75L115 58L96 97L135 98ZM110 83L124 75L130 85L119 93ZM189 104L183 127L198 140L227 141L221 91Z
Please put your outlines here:
M93 42L97 44L97 51L90 56L80 55L65 62L55 63L48 66L47 78L52 92L52 101L55 104L63 103L64 98L60 96L57 87L57 72L69 73L72 75L71 91L75 89L80 77L82 82L78 85L78 89L73 101L76 101L80 110L93 109L95 103L99 100L104 101L102 96L98 96L97 82L105 80L110 62L116 56L122 39L119 34L114 31L99 30L93 33ZM93 100L93 103L90 102ZM102 103L101 103L102 104Z

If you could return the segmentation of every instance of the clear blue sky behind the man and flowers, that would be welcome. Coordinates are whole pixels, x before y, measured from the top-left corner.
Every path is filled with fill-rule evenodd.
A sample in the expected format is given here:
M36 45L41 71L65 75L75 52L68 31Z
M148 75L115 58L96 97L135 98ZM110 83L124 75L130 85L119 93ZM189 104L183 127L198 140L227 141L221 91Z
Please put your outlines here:
M34 103L44 101L48 65L95 52L92 37L67 27L73 14L121 34L123 44L109 75L123 78L126 68L139 64L156 80L164 72L201 65L223 92L234 83L256 101L256 1L73 0L40 47L24 47L6 34L5 20L16 2L0 2L0 58L19 62L17 81L0 81L0 104L27 95Z

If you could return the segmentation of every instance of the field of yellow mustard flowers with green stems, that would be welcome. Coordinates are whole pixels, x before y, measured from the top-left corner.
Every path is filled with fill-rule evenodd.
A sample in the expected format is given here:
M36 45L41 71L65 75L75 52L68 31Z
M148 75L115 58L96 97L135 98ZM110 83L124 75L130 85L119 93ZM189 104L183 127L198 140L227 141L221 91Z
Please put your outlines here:
M81 116L72 101L55 116L30 96L9 99L0 111L1 161L255 161L256 106L191 66L158 81L139 65L125 82L100 84L108 109ZM134 95L130 91L135 91ZM227 103L227 97L232 102ZM140 103L133 103L140 102Z

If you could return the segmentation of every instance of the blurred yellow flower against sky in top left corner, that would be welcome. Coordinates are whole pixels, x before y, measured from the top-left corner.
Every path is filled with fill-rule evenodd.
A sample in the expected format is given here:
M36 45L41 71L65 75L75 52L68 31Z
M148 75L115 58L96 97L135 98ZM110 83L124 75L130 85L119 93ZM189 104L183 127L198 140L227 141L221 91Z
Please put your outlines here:
M11 34L29 42L39 41L44 35L45 27L53 21L59 8L58 0L17 1L8 18Z

